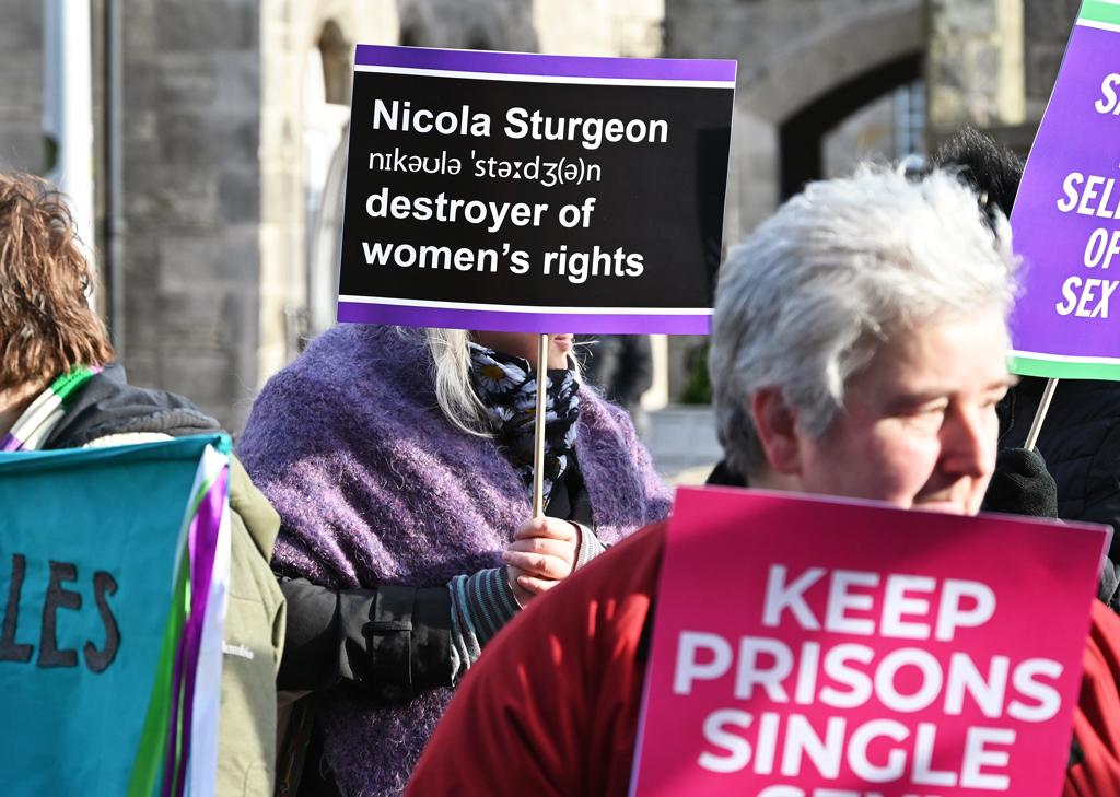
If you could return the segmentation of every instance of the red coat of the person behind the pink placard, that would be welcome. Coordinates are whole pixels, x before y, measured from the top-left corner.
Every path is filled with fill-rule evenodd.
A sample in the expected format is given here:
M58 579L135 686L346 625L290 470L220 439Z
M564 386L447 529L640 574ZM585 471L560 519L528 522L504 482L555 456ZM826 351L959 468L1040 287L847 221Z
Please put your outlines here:
M626 797L643 629L665 524L619 544L521 613L464 678L405 797ZM1094 601L1074 718L1084 762L1063 797L1120 796L1120 618Z

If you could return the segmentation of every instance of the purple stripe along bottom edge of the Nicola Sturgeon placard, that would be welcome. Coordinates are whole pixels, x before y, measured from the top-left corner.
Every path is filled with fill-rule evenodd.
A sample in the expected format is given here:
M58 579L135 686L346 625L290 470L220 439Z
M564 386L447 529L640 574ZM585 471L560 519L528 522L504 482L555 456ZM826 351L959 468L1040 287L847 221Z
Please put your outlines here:
M709 335L711 312L690 316L559 312L502 312L442 307L402 307L339 301L345 324L487 329L497 332L601 335Z

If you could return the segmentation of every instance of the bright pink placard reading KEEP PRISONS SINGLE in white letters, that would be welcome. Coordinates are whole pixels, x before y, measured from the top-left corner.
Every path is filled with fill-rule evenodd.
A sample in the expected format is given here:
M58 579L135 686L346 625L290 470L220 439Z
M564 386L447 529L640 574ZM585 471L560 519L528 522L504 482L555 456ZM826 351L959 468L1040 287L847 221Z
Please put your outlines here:
M1061 793L1105 526L716 488L669 524L632 797Z

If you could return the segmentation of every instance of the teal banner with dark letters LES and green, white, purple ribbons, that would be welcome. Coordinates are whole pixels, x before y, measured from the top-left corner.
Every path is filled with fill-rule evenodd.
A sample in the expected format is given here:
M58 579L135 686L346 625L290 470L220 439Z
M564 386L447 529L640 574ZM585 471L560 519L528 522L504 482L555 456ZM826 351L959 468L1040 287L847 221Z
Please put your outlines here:
M0 771L19 794L214 794L225 435L0 453Z

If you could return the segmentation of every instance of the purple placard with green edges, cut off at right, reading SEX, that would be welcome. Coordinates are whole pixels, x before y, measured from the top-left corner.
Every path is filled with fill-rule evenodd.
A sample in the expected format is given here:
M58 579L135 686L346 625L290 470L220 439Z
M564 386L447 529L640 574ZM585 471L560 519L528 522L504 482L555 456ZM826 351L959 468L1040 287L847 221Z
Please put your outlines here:
M1118 178L1120 4L1086 0L1011 215L1025 263L1014 372L1120 379Z

